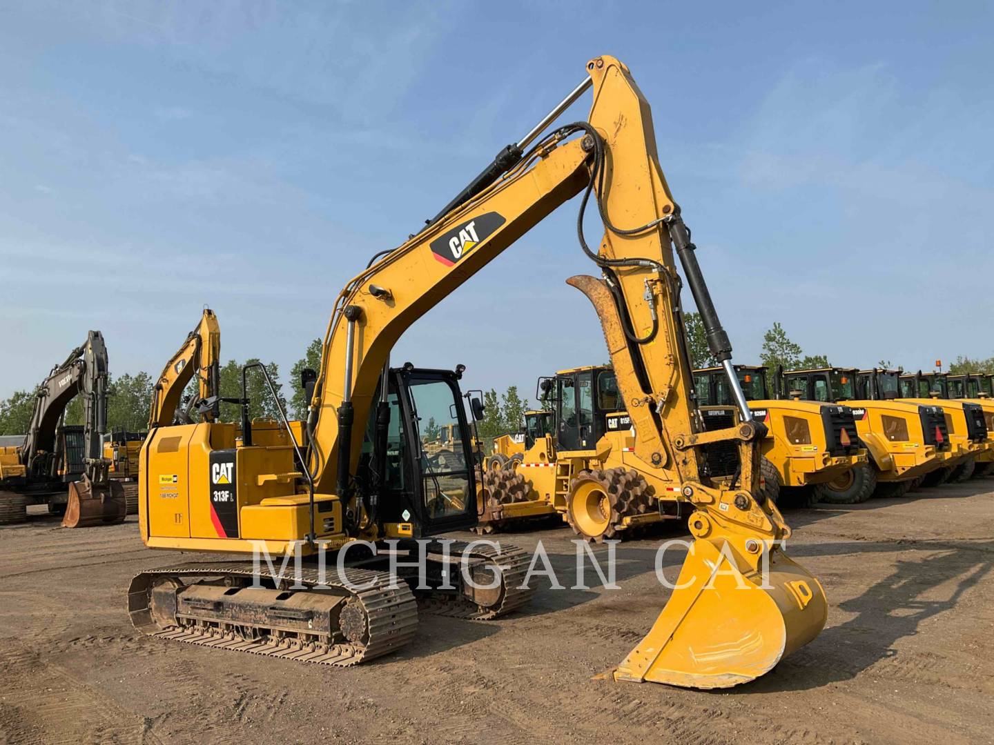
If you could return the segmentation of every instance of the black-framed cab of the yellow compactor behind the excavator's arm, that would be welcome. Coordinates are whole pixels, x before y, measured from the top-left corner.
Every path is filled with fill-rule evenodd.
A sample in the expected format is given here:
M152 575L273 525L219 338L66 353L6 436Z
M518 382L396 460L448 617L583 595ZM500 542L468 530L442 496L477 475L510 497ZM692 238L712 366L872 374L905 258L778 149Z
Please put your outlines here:
M556 442L562 451L593 450L607 431L606 415L624 410L614 371L605 366L560 371L553 389ZM618 427L628 428L622 417L615 418Z

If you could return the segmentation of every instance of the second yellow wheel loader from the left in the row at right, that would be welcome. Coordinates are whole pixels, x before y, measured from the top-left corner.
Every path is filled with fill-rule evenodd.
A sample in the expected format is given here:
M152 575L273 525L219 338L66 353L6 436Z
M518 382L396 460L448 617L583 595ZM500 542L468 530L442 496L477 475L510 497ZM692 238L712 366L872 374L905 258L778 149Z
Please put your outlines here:
M818 502L851 505L875 495L901 497L915 479L955 457L942 410L930 401L897 400L897 375L880 377L873 391L861 387L854 368L777 371L776 384L790 398L845 403L868 451L866 463L815 486Z

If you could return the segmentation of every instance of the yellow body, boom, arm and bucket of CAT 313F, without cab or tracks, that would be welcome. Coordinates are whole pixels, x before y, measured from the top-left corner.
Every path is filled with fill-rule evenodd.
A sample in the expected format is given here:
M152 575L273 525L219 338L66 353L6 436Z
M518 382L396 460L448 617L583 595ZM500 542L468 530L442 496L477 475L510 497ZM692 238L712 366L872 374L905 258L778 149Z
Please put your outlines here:
M585 72L588 79L577 95L584 85L592 88L587 122L544 136L517 165L454 202L341 291L313 380L310 415L315 421L308 430L303 472L294 466L289 443L239 446L232 425L161 422L153 427L139 465L141 502L147 502L141 525L149 545L246 553L254 548L252 541L264 540L270 552L279 551L287 541L302 538L302 524L310 522L306 508L302 519L299 500L308 492L306 474L313 475L315 510L326 506L314 515L313 545L363 537L367 528L375 532L359 496L339 485L347 484L359 468L363 432L377 410L381 375L390 372L394 345L414 321L525 231L589 190L599 215L609 221L603 218L605 231L592 249L585 242L582 247L596 262L598 275L609 272L611 285L593 276L567 281L597 314L634 435L630 451L622 444L625 436L615 433L570 458L560 452L556 461L576 456L619 462L645 470L652 484L679 490L673 494L693 511L695 536L683 574L702 583L717 576L713 587L675 590L653 630L615 677L698 687L734 685L771 670L817 636L825 623L825 595L810 574L786 557L781 541L789 536L789 527L761 494L761 425L749 420L702 432L696 420L676 310L680 280L674 251L685 273L696 280L692 289L698 306L711 301L689 229L659 166L649 104L616 59L594 58ZM713 307L710 312L714 315ZM626 336L642 341L630 345ZM721 344L726 346L717 352L730 356L731 345L727 340ZM741 472L736 483L709 478L703 468L701 448L718 442L737 448ZM559 447L562 451L562 443ZM238 484L230 500L224 496L230 484L220 483L222 478ZM310 499L307 494L307 505ZM338 516L346 513L357 516L358 531L340 532ZM392 523L387 529L412 528ZM255 537L249 539L249 534ZM772 570L764 573L767 563ZM729 574L723 570L743 577L751 587L728 591ZM141 606L148 597L144 582L133 586L130 600L139 625L148 618Z

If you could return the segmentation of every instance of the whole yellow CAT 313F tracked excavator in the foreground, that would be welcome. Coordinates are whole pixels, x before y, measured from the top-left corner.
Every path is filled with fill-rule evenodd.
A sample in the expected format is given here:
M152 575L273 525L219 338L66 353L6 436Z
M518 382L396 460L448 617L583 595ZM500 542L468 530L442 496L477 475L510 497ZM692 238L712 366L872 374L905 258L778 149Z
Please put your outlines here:
M421 610L468 618L497 618L527 602L523 551L434 537L478 519L461 366L392 368L389 356L414 321L581 195L580 247L601 276L567 281L600 319L636 432L632 457L693 510L680 589L615 679L726 687L770 671L818 635L824 591L786 555L782 541L790 529L758 488L763 428L748 418L732 346L663 178L649 105L614 58L590 60L586 73L435 218L400 247L374 256L340 292L320 370L303 381L312 393L302 446L285 416L279 437L254 438L245 383L254 373L269 385L261 366L243 370L241 429L217 421L153 427L140 464L146 545L247 560L137 575L128 596L137 628L208 647L349 666L410 640L418 601ZM587 89L588 120L547 132ZM604 226L593 248L582 229L591 201ZM674 249L710 349L735 391L744 421L734 427L704 432L695 424ZM271 385L269 391L276 399ZM475 418L482 414L478 399L468 407ZM462 430L462 457L444 472L432 469L422 451L421 428L431 417ZM709 478L701 447L724 441L736 442L740 469ZM596 447L590 443L591 451ZM420 563L431 571L424 584L398 582L414 582L413 570L388 563L386 539L397 540L391 556L426 554ZM289 580L259 578L248 556L262 550L318 559L334 551L341 571L322 576L318 561ZM451 563L455 553L461 566ZM470 581L477 575L492 581Z

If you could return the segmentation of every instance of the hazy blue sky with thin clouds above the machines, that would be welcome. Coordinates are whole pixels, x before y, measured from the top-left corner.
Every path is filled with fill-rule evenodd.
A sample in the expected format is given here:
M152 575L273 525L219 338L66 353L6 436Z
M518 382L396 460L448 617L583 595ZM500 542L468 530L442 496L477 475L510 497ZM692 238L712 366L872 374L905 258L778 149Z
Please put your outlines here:
M157 373L203 305L285 373L339 288L612 54L653 106L736 359L994 355L989 3L0 2L0 396L100 329ZM565 118L586 115L583 99ZM394 360L606 358L576 202ZM689 306L689 298L685 298Z

